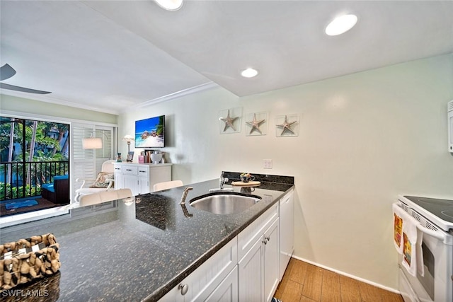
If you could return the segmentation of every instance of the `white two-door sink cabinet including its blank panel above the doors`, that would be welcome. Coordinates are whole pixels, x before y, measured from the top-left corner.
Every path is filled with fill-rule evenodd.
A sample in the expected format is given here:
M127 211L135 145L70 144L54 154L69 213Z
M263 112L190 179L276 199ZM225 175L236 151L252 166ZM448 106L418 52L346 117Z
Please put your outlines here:
M270 301L280 279L278 203L239 233L239 300ZM248 248L250 247L250 248Z

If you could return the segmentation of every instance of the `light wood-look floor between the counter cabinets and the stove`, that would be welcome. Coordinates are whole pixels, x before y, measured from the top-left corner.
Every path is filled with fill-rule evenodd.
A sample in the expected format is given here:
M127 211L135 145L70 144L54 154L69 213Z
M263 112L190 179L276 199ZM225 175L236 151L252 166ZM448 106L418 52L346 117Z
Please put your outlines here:
M403 302L399 294L291 258L275 298L282 302Z

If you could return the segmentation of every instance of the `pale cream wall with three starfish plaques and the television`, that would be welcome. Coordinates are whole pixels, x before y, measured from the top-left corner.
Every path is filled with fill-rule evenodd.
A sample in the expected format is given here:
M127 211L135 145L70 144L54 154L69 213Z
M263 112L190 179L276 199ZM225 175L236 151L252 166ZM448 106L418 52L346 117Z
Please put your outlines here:
M134 120L166 115L164 151L173 178L185 183L221 170L294 175L295 255L396 289L397 194L453 199L452 99L448 54L247 98L217 88L131 110L118 122L122 137L134 133ZM239 134L219 134L219 111L236 107L243 115L267 111L268 134L248 137L244 124ZM294 113L299 136L276 137L275 117ZM263 169L263 158L273 169Z

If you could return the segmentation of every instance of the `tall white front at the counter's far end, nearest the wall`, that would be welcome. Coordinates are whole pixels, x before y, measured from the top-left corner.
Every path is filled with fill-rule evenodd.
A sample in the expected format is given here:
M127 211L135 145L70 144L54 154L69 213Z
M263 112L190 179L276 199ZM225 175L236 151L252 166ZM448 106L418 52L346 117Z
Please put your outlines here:
M294 190L280 199L280 281L294 252Z

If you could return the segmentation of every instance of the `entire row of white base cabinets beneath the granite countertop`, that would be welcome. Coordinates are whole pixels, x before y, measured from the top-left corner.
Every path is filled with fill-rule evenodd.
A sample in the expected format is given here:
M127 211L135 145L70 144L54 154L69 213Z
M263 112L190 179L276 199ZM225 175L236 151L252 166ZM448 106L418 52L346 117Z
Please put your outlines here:
M159 301L271 301L294 250L293 225L291 190Z

